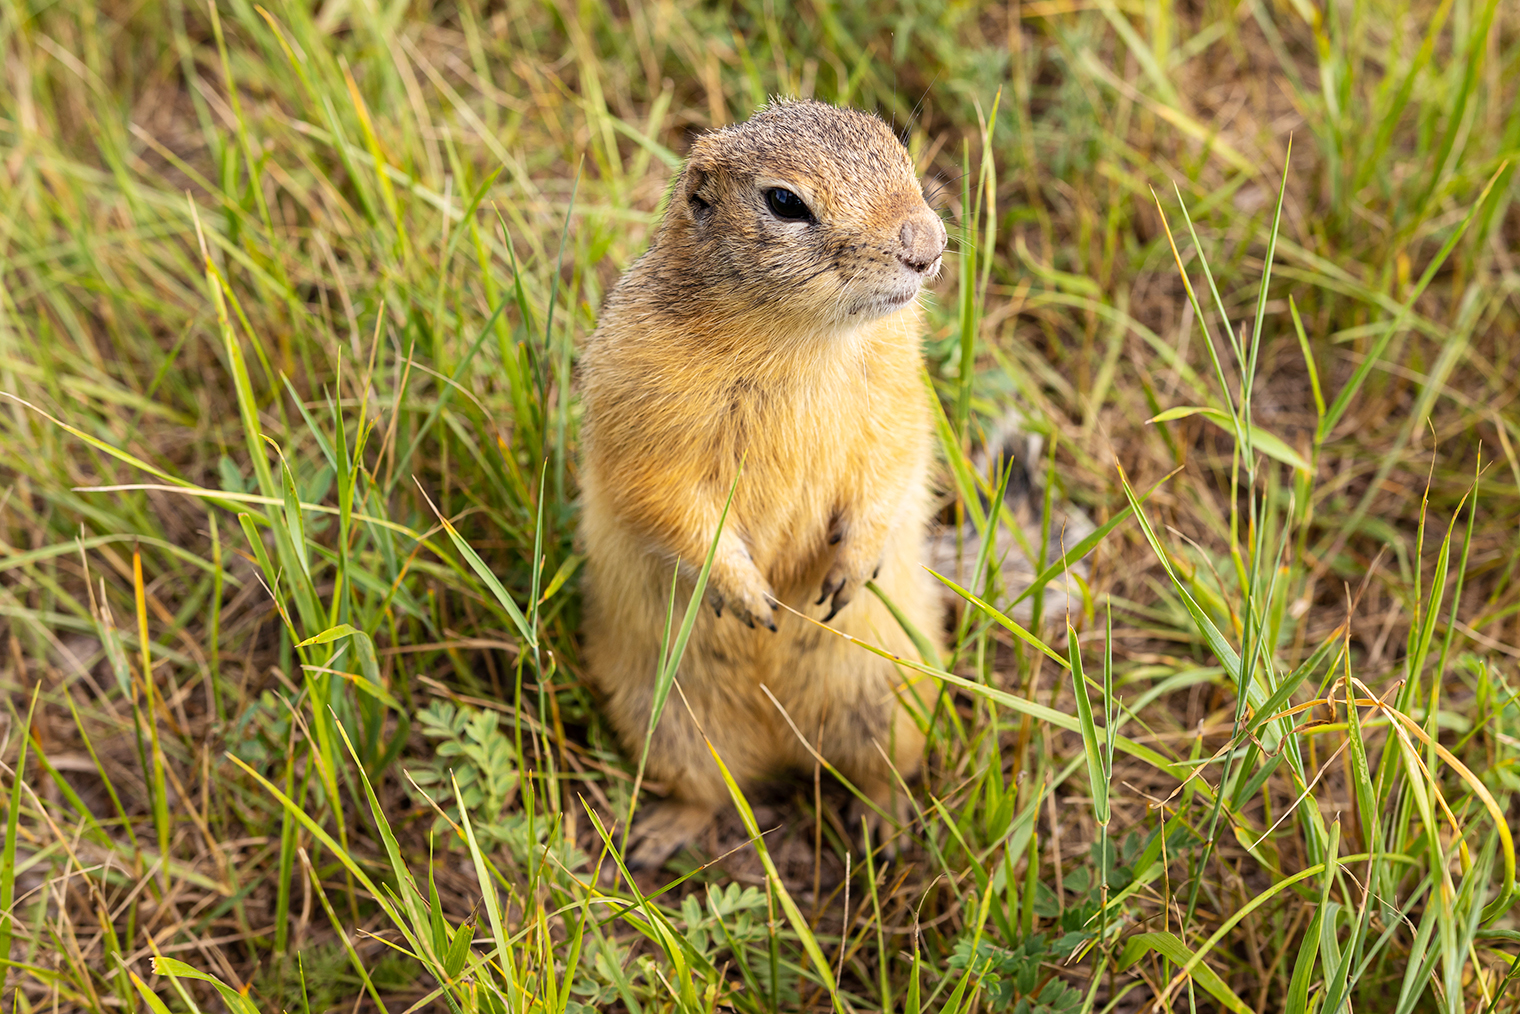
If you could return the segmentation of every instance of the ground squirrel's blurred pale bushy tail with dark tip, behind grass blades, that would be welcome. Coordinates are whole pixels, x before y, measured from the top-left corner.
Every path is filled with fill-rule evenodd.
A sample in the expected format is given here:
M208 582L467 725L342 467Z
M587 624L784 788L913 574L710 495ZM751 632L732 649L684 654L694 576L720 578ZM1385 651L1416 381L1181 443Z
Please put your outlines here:
M1034 596L1015 602L1034 582L1040 564L1040 534L1043 529L1043 511L1046 500L1046 468L1043 462L1044 438L1034 432L1023 412L1009 409L997 426L993 427L986 442L977 448L971 462L982 476L993 476L996 482L999 470L1011 468L1008 490L1003 503L1008 514L1018 524L1020 535L1015 535L1006 523L994 526L994 543L990 566L997 570L994 607L1005 610L1012 619L1028 623ZM982 508L988 511L990 497L982 496ZM991 511L988 511L991 514ZM1070 503L1059 486L1050 496L1050 528L1044 547L1044 566L1058 564L1064 553L1070 553L1079 541L1094 531L1093 521ZM1026 549L1028 547L1028 549ZM977 561L982 556L982 537L976 528L967 521L959 529L939 526L929 541L929 566L950 578L956 584L976 591L977 596L986 590L986 578L977 575ZM1058 573L1044 585L1043 616L1047 622L1062 625L1067 614L1075 620L1084 611L1084 588L1088 576L1087 561L1073 561L1069 572ZM973 584L974 582L974 584ZM959 600L950 588L944 590L948 602Z

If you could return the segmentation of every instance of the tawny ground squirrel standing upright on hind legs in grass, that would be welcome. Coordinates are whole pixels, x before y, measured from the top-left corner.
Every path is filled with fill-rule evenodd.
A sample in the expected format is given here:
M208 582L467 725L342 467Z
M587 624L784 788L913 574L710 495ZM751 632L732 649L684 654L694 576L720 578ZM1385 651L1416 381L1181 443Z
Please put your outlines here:
M679 616L743 462L711 608L649 749L669 798L635 824L637 865L728 803L693 713L742 786L813 766L795 724L877 807L903 812L888 759L903 777L920 765L924 736L898 699L912 673L781 605L917 657L863 590L874 576L939 634L917 296L944 249L891 128L778 100L696 140L649 251L602 309L581 359L585 660L635 756L672 570Z

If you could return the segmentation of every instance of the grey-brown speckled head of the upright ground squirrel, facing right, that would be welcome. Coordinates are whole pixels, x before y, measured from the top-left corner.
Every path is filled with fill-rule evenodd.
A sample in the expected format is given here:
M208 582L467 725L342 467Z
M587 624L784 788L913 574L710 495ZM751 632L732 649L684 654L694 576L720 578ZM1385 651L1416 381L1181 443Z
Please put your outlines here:
M696 140L657 243L731 312L848 328L914 301L945 228L879 117L778 100Z

